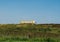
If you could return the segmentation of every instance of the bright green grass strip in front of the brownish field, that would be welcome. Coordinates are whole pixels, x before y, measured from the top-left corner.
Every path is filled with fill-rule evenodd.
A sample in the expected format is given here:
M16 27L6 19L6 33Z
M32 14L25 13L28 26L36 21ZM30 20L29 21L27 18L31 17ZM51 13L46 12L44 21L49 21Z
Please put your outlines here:
M0 42L60 42L60 39L57 38L1 38Z

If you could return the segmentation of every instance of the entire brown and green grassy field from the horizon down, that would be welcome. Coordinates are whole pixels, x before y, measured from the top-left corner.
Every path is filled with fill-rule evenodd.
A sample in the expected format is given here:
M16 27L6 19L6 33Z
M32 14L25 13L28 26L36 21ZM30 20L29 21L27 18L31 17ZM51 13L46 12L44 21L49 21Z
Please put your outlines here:
M60 42L60 24L0 24L0 42Z

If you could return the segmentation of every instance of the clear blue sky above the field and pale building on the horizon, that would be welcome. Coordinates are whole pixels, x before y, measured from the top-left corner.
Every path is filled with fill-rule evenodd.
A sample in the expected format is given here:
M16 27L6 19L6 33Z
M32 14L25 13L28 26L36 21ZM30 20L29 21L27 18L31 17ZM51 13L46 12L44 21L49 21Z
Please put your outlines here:
M60 23L60 0L0 0L0 24L21 20Z

